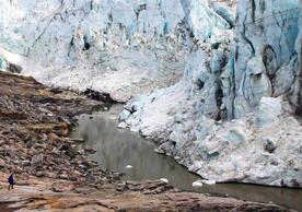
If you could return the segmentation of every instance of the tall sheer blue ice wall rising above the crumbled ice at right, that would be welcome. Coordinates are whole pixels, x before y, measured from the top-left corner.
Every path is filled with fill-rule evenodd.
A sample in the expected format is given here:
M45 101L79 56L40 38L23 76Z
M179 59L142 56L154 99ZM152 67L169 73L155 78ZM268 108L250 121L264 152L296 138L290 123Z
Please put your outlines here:
M237 4L235 116L258 105L262 96L288 95L298 70L298 0L243 0Z

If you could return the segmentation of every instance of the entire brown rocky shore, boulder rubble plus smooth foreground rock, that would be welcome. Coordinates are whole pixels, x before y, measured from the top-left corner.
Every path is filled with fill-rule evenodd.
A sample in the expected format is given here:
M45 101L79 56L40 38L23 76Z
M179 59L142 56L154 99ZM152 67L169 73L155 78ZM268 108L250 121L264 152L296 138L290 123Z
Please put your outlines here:
M182 192L160 181L123 181L68 136L73 117L104 103L0 72L0 209L23 211L287 211L232 198ZM15 173L16 186L7 189Z

